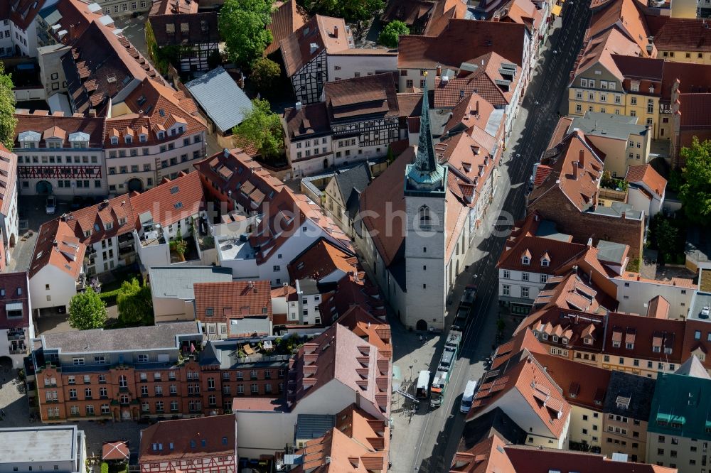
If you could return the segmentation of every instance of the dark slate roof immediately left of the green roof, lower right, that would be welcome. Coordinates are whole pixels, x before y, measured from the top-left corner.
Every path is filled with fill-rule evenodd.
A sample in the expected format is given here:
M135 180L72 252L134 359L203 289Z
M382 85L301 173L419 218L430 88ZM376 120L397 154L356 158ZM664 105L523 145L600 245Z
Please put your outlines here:
M652 395L656 381L645 376L612 371L610 383L607 385L603 412L625 417L647 420L652 408ZM629 407L617 406L617 397L630 398Z

